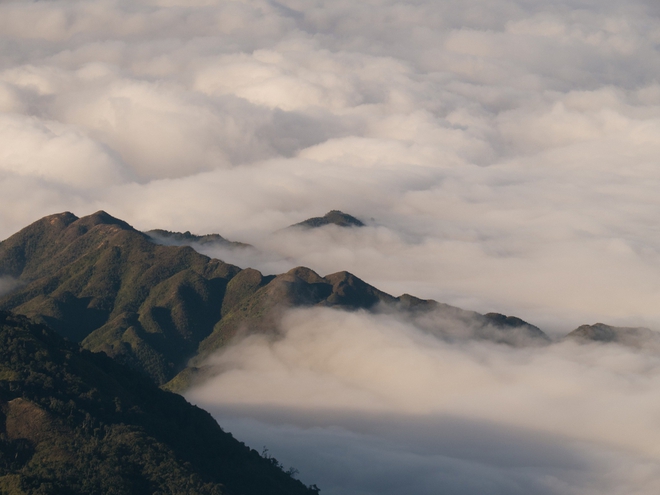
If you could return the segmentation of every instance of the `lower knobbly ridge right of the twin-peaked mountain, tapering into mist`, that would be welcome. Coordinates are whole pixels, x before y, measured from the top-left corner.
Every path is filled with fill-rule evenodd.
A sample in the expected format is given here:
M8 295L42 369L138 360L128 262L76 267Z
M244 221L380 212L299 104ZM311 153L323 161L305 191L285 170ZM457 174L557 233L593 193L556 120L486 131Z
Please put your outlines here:
M345 271L321 277L309 268L297 267L282 275L263 277L248 268L236 275L227 289L228 293L240 295L240 303L227 301L227 311L223 303L222 319L200 343L197 356L165 385L166 389L182 392L221 372L205 364L206 358L241 332L276 334L279 316L287 308L366 309L403 318L446 341L490 340L513 346L550 343L539 328L519 318L498 313L481 315L408 294L393 297Z

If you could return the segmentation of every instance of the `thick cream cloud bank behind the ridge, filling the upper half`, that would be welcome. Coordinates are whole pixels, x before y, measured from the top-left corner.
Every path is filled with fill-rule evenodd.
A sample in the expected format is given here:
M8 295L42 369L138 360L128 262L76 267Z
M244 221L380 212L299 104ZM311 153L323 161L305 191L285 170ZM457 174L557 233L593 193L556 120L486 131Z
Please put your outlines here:
M266 270L660 326L652 2L0 3L0 237L103 208ZM360 234L269 234L330 209ZM234 253L235 254L235 253ZM231 257L231 253L230 253Z

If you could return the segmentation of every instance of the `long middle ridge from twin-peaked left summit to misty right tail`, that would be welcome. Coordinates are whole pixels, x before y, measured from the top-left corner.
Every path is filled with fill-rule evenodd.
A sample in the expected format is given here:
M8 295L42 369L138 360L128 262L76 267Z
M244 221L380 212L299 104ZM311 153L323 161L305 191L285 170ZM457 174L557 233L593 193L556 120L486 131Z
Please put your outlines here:
M397 312L447 339L547 340L522 320L393 297L348 272L241 269L188 246L156 244L103 211L51 215L1 242L2 276L18 285L0 297L0 310L33 318L157 384L184 370L185 383L182 376L197 372L189 361L199 366L240 332L275 332L280 312L292 307Z

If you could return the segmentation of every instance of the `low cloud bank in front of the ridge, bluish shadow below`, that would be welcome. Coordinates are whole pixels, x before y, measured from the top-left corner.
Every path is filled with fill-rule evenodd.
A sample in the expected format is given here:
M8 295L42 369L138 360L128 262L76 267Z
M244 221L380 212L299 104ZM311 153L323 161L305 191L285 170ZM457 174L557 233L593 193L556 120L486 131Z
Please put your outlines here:
M654 494L660 356L615 344L446 343L297 310L187 394L328 494Z

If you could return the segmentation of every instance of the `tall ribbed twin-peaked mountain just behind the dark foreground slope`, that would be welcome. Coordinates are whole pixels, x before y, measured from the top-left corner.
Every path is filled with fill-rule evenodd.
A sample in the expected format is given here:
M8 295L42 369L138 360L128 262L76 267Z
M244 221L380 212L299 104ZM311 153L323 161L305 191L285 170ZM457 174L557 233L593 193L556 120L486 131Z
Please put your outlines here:
M45 217L0 243L0 275L22 284L0 309L27 315L157 383L196 353L240 268L160 246L105 212Z

